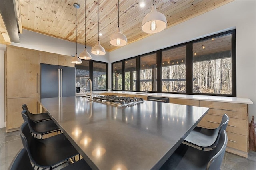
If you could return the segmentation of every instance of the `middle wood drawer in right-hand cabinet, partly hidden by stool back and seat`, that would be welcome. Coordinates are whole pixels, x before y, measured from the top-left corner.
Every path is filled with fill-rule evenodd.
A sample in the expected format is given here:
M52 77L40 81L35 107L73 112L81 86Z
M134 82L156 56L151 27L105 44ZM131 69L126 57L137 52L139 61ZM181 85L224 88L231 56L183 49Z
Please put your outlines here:
M207 128L217 128L220 125L222 116L209 115L208 113L200 121L200 126ZM241 135L247 135L247 121L243 119L229 118L227 132L232 132Z

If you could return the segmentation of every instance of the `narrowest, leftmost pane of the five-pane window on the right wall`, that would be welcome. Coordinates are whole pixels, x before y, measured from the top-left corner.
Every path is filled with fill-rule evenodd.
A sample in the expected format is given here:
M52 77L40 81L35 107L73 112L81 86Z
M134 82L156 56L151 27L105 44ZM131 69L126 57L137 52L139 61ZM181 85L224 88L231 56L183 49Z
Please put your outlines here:
M114 63L112 65L113 70L113 90L122 90L122 62Z

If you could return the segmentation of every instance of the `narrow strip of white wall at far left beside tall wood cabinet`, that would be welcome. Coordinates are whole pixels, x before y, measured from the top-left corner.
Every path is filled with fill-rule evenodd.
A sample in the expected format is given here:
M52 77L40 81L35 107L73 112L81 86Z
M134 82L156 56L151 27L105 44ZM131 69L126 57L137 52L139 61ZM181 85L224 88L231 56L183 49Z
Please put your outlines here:
M0 128L6 127L4 119L4 50L6 45L0 45Z

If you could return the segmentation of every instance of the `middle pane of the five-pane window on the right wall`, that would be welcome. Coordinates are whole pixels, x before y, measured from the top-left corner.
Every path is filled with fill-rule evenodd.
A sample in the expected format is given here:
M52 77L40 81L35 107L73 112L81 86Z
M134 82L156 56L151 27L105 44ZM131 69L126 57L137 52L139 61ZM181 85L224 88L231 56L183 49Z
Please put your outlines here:
M156 91L156 53L140 57L140 90ZM142 84L146 82L145 84ZM143 86L142 86L143 85ZM147 87L147 89L146 89Z

